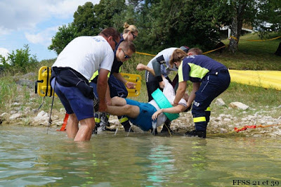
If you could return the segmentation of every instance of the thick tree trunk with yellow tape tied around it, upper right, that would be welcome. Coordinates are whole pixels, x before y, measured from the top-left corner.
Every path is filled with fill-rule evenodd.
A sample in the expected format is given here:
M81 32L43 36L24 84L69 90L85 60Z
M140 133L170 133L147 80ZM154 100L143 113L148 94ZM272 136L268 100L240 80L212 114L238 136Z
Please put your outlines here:
M238 51L238 42L242 31L245 4L239 4L237 7L234 8L236 15L233 17L233 20L230 25L230 43L228 46L228 51L232 53Z

